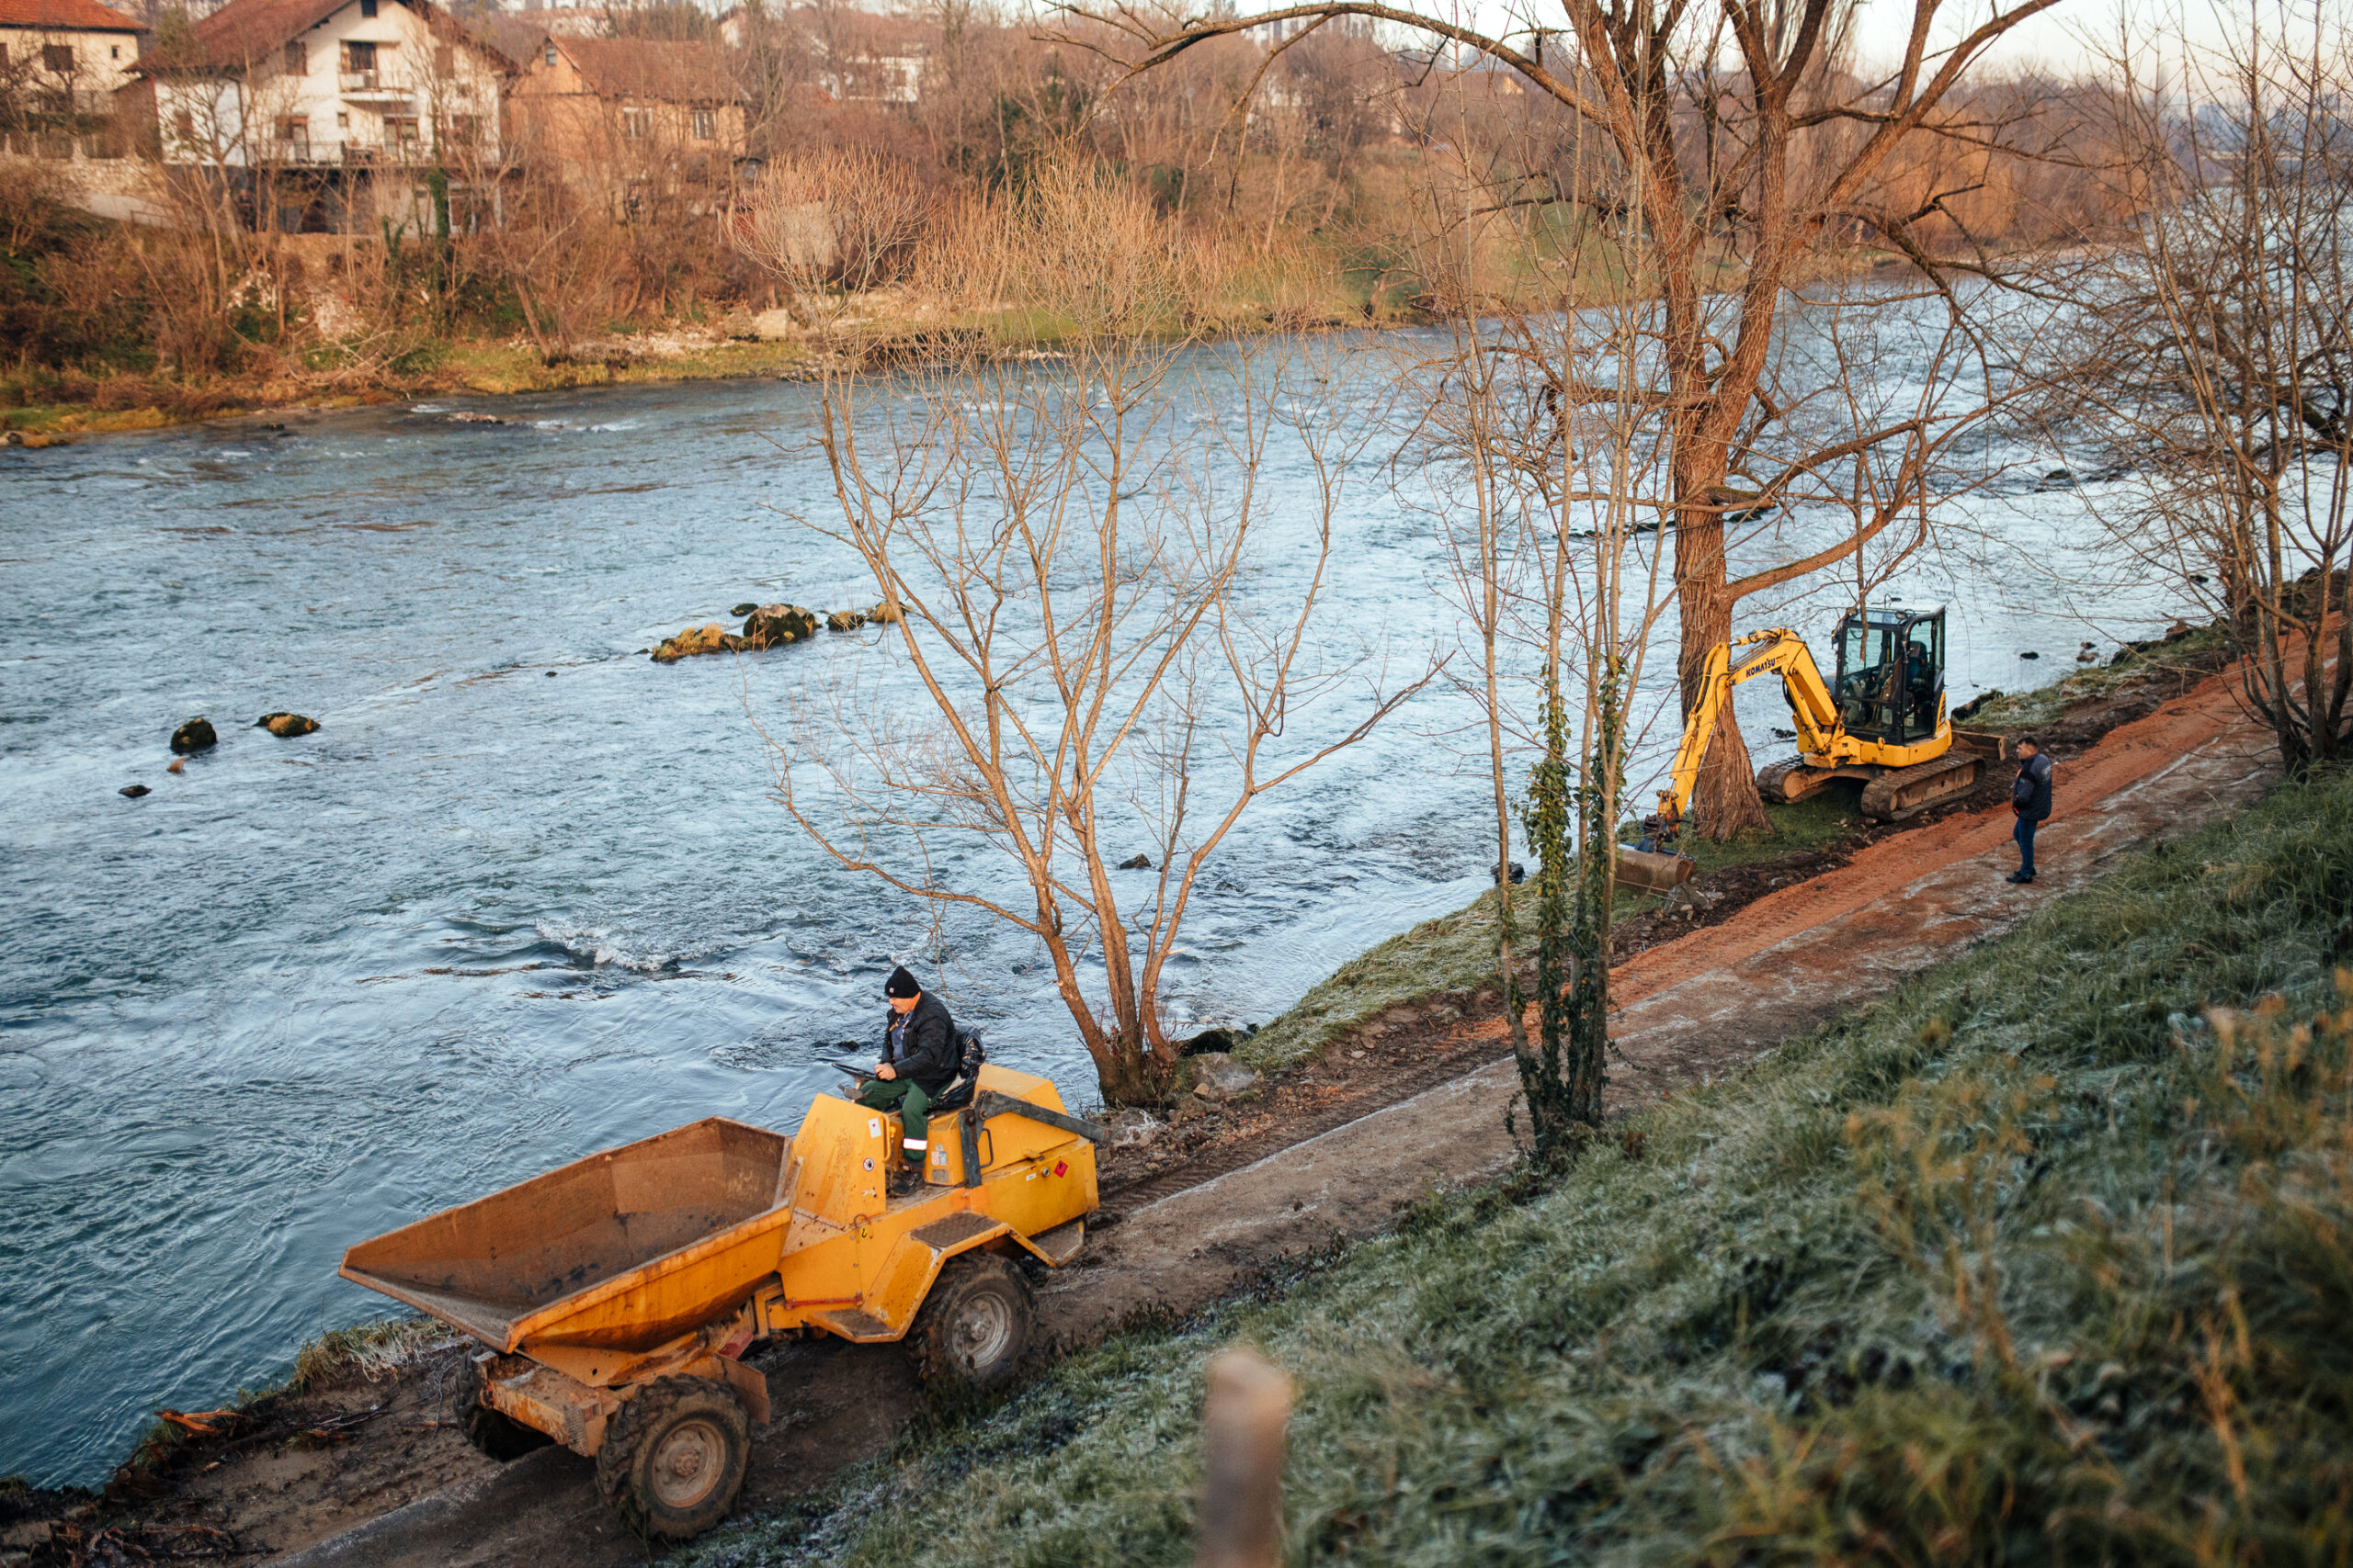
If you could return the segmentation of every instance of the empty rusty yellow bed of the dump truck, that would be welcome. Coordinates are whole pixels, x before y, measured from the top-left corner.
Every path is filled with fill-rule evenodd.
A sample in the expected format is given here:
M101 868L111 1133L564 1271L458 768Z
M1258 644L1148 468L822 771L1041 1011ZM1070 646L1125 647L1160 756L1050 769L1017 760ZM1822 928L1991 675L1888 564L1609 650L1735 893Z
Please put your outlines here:
M344 1279L504 1352L645 1352L776 1272L793 1140L708 1117L344 1253Z

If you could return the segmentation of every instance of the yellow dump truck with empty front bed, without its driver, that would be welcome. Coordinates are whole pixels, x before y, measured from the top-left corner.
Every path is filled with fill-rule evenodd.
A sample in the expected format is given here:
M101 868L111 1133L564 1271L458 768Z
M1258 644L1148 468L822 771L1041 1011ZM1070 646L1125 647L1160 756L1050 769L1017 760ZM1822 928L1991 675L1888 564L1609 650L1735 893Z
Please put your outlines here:
M979 1065L901 1197L896 1119L819 1095L791 1138L708 1117L362 1241L341 1272L485 1347L459 1394L478 1448L553 1439L633 1530L687 1540L734 1507L767 1422L753 1345L906 1340L927 1378L1009 1378L1021 1260L1078 1255L1101 1138L1047 1079Z

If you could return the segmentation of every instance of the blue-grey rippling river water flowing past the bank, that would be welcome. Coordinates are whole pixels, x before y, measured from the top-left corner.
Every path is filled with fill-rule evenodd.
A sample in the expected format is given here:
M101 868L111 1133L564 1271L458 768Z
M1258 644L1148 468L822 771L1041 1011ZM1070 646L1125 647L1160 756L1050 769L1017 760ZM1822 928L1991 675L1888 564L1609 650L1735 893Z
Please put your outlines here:
M694 1117L788 1128L838 1079L819 1048L873 1034L882 973L932 933L769 799L753 717L852 661L904 696L904 670L871 637L642 656L741 599L875 599L781 515L831 496L812 404L628 388L0 454L0 1474L96 1481L155 1406L219 1403L379 1314L334 1276L351 1241ZM1304 470L1278 442L1273 602L1308 559ZM1955 701L2179 609L2052 590L2080 494L2000 484L1962 512L1991 567L1901 583L1953 602ZM1339 559L1334 625L1407 663L1452 646L1445 552L1377 477ZM1786 611L1817 649L1835 599ZM1741 715L1772 755L1762 686ZM249 729L268 710L322 729ZM191 715L221 745L167 776ZM1438 684L1245 818L1179 1016L1271 1018L1480 891L1473 719ZM993 1058L1089 1103L1038 954L972 922L953 945Z

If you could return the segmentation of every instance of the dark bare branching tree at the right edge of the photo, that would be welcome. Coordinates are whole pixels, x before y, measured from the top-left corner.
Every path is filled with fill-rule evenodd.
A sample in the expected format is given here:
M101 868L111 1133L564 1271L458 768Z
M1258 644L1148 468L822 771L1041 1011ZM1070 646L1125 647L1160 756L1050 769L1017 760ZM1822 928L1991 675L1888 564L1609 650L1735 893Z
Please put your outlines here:
M2104 522L2231 628L2282 762L2344 762L2353 35L2322 7L2111 68L2115 179L2151 216L2071 273L2066 329L2040 336L2061 435L2139 468Z

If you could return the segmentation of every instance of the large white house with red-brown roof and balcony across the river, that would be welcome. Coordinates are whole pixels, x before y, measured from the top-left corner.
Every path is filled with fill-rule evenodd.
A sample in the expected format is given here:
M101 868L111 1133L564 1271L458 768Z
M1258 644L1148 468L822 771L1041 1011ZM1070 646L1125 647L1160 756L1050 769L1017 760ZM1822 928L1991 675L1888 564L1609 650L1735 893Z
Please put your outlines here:
M249 195L256 226L466 226L499 179L513 63L431 0L228 0L160 47L162 158ZM435 179L438 176L438 179Z

